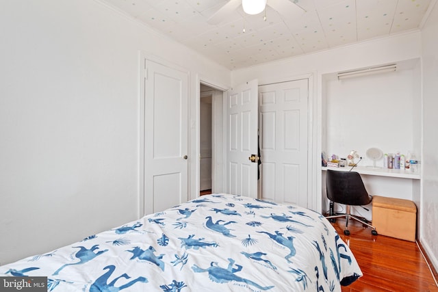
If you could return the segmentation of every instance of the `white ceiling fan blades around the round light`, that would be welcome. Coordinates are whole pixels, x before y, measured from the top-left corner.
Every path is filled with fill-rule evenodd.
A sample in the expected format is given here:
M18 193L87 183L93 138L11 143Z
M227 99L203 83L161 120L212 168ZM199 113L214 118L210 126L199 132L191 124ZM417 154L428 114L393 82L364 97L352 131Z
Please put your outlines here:
M211 25L218 25L221 23L224 18L231 14L234 10L236 10L240 5L244 6L245 10L245 2L250 2L254 0L229 0L225 5L223 5L219 10L213 14L209 19L208 23ZM305 13L306 11L300 6L296 5L292 0L261 0L263 2L263 10L265 5L270 6L272 9L276 10L276 12L279 12L282 16L285 17L296 17L300 16L301 14ZM259 11L262 12L263 10ZM258 13L259 13L258 12ZM246 12L248 13L248 12ZM250 13L250 14L257 14L257 13Z

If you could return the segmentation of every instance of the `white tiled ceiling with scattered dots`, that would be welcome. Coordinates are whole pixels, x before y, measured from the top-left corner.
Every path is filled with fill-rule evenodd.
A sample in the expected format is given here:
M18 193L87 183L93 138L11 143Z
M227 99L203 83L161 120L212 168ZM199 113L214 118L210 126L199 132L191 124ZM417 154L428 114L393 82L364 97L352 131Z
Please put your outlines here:
M290 0L305 13L244 14L207 20L226 0L102 0L145 25L235 70L419 29L434 0Z

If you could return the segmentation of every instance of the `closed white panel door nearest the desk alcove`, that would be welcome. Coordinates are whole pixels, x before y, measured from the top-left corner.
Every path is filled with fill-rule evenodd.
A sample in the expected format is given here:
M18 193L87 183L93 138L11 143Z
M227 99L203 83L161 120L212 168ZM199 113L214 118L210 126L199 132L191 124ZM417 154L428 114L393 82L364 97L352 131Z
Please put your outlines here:
M308 79L259 87L261 198L307 206Z

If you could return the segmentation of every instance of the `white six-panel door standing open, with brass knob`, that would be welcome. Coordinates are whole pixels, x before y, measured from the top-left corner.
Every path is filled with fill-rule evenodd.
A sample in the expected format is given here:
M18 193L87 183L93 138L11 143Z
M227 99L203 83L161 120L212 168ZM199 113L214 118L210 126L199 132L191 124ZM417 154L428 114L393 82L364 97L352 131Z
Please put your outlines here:
M227 193L257 198L257 80L227 92Z

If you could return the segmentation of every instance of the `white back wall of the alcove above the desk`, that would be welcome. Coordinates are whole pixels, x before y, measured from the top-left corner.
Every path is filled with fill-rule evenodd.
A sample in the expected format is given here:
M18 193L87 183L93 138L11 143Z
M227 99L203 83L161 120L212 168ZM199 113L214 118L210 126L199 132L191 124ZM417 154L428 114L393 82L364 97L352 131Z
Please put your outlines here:
M413 120L419 118L413 115L413 103L414 99L420 103L421 98L413 87L413 69L326 81L323 150L344 158L357 150L363 157L361 166L373 165L366 157L368 148L404 155L412 152ZM383 159L376 166L383 167Z

